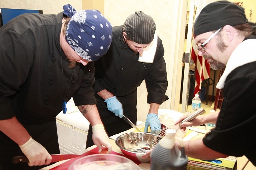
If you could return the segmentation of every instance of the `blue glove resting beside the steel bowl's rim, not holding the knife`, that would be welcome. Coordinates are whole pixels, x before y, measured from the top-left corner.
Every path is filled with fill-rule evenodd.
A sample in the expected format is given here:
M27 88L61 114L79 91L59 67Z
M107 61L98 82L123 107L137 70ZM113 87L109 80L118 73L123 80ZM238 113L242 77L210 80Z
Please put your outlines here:
M160 120L158 119L157 114L150 113L147 115L144 132L148 132L149 126L151 129L151 133L155 133L156 131L161 130L161 123Z

